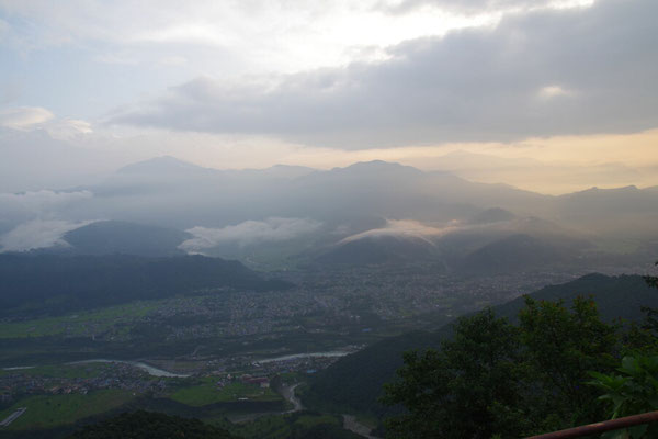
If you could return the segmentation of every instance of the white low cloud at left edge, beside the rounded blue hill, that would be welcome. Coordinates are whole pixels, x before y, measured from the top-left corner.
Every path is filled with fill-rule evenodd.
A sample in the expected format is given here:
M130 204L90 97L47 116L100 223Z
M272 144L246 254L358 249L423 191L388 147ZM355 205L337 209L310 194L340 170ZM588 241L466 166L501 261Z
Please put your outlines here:
M24 223L0 236L0 252L27 251L54 246L67 247L68 244L63 239L63 236L67 232L90 223L92 222L71 223L57 219L35 219Z

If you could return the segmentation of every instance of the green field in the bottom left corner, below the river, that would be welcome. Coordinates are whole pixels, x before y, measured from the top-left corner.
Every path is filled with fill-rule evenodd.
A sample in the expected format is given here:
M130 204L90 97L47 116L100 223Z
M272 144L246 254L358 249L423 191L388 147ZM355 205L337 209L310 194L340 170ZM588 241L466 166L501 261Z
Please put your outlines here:
M0 412L0 419L4 419L19 407L26 407L27 410L5 428L10 430L54 428L109 412L129 402L133 397L132 392L123 390L95 391L87 395L27 396L18 401L11 408Z

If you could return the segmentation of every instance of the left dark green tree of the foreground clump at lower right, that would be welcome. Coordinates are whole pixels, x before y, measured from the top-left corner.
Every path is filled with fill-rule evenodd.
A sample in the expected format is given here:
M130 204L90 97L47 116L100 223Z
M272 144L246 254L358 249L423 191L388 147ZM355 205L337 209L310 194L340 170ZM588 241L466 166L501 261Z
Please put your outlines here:
M407 413L387 420L399 438L490 438L510 425L519 393L519 337L491 309L461 318L441 351L405 353L383 402Z

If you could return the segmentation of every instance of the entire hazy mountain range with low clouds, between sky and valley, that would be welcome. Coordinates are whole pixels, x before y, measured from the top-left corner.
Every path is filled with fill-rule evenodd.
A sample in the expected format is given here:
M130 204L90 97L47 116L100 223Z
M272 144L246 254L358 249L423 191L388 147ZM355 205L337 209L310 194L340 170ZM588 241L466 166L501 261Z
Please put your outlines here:
M0 204L4 251L189 252L254 267L439 260L479 269L496 259L508 270L520 267L506 260L541 266L606 249L611 238L626 252L658 238L656 188L553 196L385 161L236 171L159 157L97 184Z

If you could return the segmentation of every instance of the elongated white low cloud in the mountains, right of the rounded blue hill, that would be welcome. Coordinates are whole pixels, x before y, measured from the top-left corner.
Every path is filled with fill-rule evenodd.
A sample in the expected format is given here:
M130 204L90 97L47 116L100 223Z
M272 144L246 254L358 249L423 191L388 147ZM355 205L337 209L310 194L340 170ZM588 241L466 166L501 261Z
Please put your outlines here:
M308 218L271 217L265 221L246 221L223 228L193 227L186 230L194 235L179 247L188 252L231 243L251 245L262 241L283 241L316 232L320 223Z

